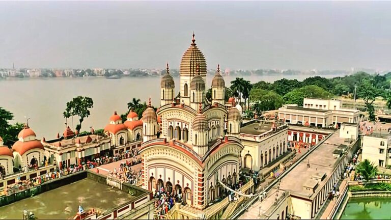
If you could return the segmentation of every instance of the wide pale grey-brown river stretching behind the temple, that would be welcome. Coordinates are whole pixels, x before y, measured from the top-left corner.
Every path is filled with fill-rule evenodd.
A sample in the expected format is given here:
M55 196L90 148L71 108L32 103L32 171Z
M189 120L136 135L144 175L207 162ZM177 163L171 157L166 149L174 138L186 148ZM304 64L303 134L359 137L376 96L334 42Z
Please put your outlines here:
M260 80L272 82L281 78L302 80L312 75L283 75L273 74L264 76L243 76L245 80L258 82ZM334 77L337 75L327 75ZM210 88L212 75L207 76L207 88ZM240 76L224 76L226 85ZM179 77L174 78L175 85L179 85ZM176 93L179 92L178 86ZM86 118L81 130L103 128L114 111L123 114L127 111L127 103L132 98L160 104L160 78L145 77L121 79L106 79L103 77L87 78L7 78L0 80L0 106L14 114L17 122L25 122L31 118L30 127L36 132L38 139L45 136L46 140L54 139L57 132L65 129L63 112L66 103L76 96L88 96L94 100L91 116ZM140 116L139 116L140 117ZM73 119L76 127L78 117ZM72 120L68 120L72 127Z

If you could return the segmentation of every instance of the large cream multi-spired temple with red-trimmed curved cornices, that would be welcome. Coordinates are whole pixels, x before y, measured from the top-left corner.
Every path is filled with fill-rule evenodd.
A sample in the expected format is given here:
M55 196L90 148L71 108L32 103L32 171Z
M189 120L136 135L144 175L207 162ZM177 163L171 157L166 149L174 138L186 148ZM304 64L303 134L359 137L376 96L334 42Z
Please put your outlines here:
M206 74L206 60L193 34L180 64L179 97L167 64L160 82L160 107L155 112L149 101L142 119L143 187L153 192L163 187L167 193L182 195L192 213L205 211L222 197L220 182L237 183L243 150L238 138L241 115L235 101L225 107L219 66L212 80L211 103L205 96Z

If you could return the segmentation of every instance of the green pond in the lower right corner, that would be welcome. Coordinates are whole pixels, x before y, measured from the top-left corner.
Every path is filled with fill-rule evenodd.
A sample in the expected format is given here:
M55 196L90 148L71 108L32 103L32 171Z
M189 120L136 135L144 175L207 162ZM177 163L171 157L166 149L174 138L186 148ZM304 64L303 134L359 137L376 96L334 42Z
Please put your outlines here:
M351 198L341 219L391 219L391 198Z

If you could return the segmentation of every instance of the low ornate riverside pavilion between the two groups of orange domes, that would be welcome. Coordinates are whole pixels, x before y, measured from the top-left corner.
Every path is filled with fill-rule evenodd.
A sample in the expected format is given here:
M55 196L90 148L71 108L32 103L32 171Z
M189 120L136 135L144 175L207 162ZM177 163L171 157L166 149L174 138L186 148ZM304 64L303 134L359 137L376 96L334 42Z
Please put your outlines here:
M93 129L92 129L93 130ZM70 167L71 164L81 164L94 159L105 153L110 153L110 139L105 135L94 134L76 135L69 126L57 139L46 141L42 138L41 143L45 149L48 163L57 161L59 168Z

